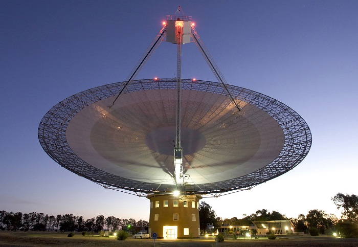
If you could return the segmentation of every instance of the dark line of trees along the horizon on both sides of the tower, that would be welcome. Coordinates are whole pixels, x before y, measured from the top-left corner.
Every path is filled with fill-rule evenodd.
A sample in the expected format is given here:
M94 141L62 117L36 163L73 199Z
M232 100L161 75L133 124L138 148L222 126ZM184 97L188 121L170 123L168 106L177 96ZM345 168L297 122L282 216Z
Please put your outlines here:
M241 219L237 217L222 219L216 215L210 205L202 201L199 204L200 229L205 231L207 223L213 223L217 229L223 224L249 226L252 221L289 219L293 222L296 232L307 233L309 229L315 228L318 229L320 234L326 234L332 231L337 224L358 223L358 196L337 193L331 200L337 206L337 209L343 209L341 219L338 219L334 214L327 214L318 209L308 211L307 215L299 214L297 218L287 218L277 211L271 213L262 209L250 215L244 214ZM103 215L84 220L82 216L73 216L73 214L58 214L55 217L54 215L49 216L36 212L23 214L21 212L0 211L0 230L8 231L98 232L103 229L122 230L126 229L128 225L148 227L149 222L142 219L136 222L133 218L119 219L114 216L105 218Z

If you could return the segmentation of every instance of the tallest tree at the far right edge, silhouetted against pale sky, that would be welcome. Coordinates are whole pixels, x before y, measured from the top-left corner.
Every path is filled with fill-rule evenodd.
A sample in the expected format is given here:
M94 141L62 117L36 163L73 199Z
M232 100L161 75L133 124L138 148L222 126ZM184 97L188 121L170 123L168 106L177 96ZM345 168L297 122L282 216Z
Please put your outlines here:
M342 218L345 217L348 221L358 222L358 196L337 193L331 199L337 209L343 209Z

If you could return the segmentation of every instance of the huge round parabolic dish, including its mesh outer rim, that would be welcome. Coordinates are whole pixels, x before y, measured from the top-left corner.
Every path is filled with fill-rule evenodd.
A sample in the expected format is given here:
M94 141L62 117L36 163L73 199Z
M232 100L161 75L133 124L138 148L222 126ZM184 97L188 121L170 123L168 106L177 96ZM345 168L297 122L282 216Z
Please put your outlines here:
M174 181L175 79L125 82L75 94L42 118L42 148L93 182L143 193L222 193L250 188L297 166L312 138L287 105L218 82L182 79L184 184Z

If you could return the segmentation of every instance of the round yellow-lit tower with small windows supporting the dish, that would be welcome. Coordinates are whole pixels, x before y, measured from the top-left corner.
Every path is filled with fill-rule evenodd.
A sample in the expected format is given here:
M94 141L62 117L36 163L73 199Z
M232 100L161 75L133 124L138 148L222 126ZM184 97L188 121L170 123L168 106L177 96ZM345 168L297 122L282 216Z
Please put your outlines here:
M149 230L158 238L199 238L200 195L174 196L150 194Z

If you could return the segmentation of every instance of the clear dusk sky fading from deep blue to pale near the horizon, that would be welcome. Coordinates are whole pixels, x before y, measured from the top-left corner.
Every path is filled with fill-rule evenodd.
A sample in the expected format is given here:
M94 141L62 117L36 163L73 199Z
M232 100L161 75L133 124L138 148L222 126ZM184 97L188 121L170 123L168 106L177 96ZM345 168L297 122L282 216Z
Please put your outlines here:
M229 84L271 96L309 125L312 147L293 170L219 198L222 218L267 209L340 216L338 192L358 194L358 1L0 0L0 210L149 219L149 200L107 190L58 165L41 148L39 122L59 101L124 81L166 15L181 5ZM163 42L137 79L173 78ZM216 78L195 44L182 78Z

